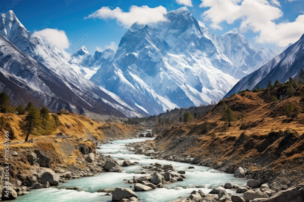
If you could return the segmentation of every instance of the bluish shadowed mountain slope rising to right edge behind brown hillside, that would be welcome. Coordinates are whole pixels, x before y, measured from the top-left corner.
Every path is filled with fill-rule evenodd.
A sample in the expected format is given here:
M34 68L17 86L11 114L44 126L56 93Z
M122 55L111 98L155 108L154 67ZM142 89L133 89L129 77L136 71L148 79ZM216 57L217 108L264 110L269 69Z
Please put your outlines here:
M265 88L268 81L272 81L272 84L276 80L284 83L290 77L297 78L302 68L304 68L304 35L266 65L242 78L224 98L246 88L253 90L257 85Z

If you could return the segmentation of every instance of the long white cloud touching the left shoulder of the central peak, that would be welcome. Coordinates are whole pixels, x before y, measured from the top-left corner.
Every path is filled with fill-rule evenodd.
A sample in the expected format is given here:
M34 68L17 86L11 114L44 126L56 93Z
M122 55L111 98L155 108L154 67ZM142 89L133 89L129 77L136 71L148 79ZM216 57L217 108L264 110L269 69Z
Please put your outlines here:
M163 6L149 8L146 5L141 7L133 5L129 8L129 12L123 12L123 10L119 7L116 7L113 10L111 10L109 7L102 7L84 19L116 19L119 25L123 25L125 28L129 28L131 25L133 25L134 22L145 25L152 22L167 21L168 19L164 16L166 13L167 9Z

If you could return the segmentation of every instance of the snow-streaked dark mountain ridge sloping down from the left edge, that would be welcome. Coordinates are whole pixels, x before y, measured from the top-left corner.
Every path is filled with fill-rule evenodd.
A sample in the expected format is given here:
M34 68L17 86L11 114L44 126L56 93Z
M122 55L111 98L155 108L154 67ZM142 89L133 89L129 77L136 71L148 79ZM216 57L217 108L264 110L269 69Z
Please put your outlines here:
M0 91L6 91L14 104L33 101L52 111L67 108L76 113L116 116L147 115L142 109L86 79L78 64L94 68L111 51L95 53L80 60L81 53L70 55L21 24L9 11L0 14ZM87 52L85 53L87 54ZM65 58L78 63L70 64ZM85 63L88 61L88 63Z

